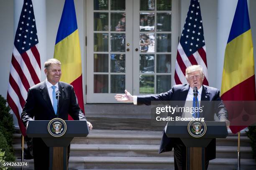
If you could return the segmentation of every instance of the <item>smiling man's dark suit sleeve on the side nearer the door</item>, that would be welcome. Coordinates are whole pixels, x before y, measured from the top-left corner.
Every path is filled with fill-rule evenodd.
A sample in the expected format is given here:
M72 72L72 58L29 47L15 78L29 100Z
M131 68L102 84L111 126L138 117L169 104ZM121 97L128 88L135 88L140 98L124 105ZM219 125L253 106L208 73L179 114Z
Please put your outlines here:
M84 117L84 113L79 107L77 96L74 92L74 87L71 88L71 100L69 107L69 114L74 120L86 120Z

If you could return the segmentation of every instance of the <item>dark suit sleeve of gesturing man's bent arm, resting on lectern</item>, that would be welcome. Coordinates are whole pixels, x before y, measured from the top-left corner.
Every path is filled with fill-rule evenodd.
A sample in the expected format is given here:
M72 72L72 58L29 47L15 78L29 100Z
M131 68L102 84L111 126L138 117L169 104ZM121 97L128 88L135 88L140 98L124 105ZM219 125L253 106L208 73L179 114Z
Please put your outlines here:
M228 111L223 103L223 101L220 99L220 91L217 91L216 99L215 99L215 113L220 121L225 121L228 119Z

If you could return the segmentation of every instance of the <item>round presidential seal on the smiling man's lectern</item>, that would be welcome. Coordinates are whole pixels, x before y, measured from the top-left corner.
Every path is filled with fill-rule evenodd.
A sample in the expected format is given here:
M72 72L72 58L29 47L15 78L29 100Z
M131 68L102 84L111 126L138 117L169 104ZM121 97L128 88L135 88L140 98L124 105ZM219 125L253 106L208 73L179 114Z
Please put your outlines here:
M67 130L67 124L63 119L52 119L48 124L48 132L51 136L60 137L65 134Z

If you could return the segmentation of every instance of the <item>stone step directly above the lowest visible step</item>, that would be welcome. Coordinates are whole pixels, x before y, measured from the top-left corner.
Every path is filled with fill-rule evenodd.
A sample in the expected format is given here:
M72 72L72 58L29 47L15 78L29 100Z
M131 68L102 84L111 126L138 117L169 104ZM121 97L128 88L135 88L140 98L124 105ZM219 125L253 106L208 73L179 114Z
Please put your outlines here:
M16 156L20 156L21 147L13 145ZM173 152L159 154L159 145L116 145L116 144L72 144L70 156L91 156L91 157L173 157ZM240 147L242 159L251 159L251 147ZM236 158L237 147L217 146L217 158Z

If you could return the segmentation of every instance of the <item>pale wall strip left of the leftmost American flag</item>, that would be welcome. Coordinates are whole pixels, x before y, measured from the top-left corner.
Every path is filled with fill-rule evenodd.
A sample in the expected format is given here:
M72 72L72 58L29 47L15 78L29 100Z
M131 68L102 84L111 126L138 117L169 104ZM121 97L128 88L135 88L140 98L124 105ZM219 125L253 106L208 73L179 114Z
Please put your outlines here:
M13 1L0 0L0 95L6 99L13 52Z

